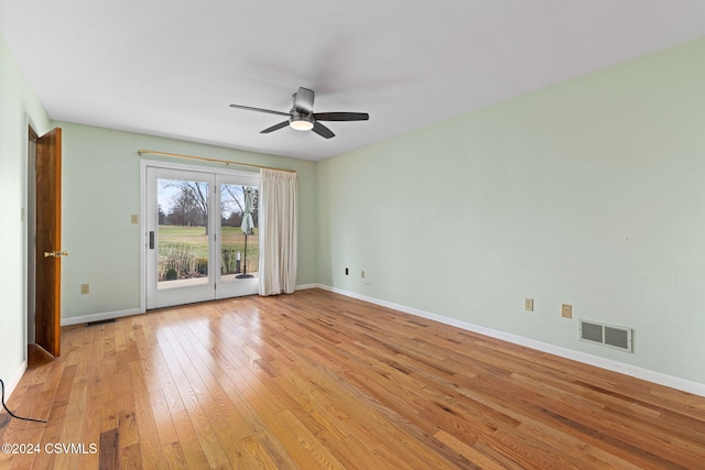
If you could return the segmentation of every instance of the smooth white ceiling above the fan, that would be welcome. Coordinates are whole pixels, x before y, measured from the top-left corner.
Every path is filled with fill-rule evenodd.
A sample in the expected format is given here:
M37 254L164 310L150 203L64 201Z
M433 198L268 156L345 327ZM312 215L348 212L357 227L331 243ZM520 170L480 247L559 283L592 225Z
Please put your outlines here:
M0 28L53 119L322 160L703 36L705 1L0 0ZM300 86L370 120L228 107Z

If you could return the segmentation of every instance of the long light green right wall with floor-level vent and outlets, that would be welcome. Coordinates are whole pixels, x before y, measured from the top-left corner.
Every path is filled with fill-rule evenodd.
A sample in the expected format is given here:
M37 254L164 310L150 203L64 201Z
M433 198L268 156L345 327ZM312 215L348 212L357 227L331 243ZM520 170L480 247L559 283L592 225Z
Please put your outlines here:
M704 110L698 40L321 162L319 282L705 383Z

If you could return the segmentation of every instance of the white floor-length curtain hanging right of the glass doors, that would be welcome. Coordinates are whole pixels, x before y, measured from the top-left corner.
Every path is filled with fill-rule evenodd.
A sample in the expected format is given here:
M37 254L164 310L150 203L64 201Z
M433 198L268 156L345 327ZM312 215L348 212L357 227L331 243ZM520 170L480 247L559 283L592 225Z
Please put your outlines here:
M262 170L259 193L260 295L296 287L296 174Z

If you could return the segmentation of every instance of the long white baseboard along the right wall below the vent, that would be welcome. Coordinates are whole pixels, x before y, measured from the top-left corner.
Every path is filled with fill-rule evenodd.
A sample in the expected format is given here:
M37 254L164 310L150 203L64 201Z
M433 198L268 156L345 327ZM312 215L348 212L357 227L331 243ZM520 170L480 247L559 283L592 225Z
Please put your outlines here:
M417 317L435 320L445 325L451 325L468 331L489 336L491 338L501 339L503 341L512 342L514 345L524 346L527 348L535 349L542 352L547 352L549 354L554 354L562 358L571 359L573 361L582 362L584 364L594 365L600 369L606 369L608 371L618 372L625 375L633 376L636 379L641 379L648 382L657 383L659 385L669 386L671 389L680 390L680 391L692 393L699 396L705 396L705 384L702 384L698 382L693 382L690 380L668 375L661 372L655 372L649 369L626 364L623 362L614 361L611 359L605 359L597 356L587 354L585 352L574 351L572 349L562 348L560 346L549 345L545 342L508 334L505 331L499 331L491 328L473 325L463 320L444 317L441 315L432 314L430 311L406 307L404 305L394 304L387 300L380 300L375 297L368 297L366 295L356 294L354 292L344 291L337 287L330 287L324 284L317 284L316 287L319 287L325 291L334 292L336 294L345 295L347 297L357 298L359 300L369 302L370 304L379 305L382 307L393 308L394 310L403 311L405 314L411 314Z

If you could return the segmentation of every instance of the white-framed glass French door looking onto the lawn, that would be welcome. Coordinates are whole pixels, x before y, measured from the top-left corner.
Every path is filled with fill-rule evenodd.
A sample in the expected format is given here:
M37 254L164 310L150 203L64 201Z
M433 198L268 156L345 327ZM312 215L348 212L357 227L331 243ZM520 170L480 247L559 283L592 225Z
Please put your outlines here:
M256 294L259 175L147 166L147 308Z

